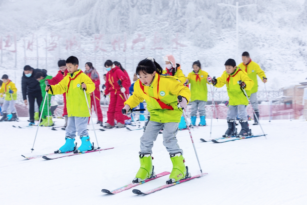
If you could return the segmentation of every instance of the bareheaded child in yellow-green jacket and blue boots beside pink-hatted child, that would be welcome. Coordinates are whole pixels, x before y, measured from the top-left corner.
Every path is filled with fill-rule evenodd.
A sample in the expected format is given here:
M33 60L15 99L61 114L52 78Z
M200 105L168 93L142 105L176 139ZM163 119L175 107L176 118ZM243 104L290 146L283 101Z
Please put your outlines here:
M192 65L193 71L188 74L186 84L191 84L191 125L196 124L196 113L197 109L200 115L200 126L206 125L206 110L205 105L207 104L207 83L208 73L203 71L200 67L200 62L195 61Z

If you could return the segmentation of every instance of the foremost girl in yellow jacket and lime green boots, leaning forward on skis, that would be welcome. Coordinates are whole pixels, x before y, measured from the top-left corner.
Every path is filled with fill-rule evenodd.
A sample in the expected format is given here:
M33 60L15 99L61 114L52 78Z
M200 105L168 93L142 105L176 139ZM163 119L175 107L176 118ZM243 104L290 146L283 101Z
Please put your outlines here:
M145 179L154 177L152 165L153 141L156 141L159 131L163 128L163 144L169 152L173 163L173 170L167 183L173 183L189 176L185 168L183 151L177 144L176 135L178 124L191 97L188 87L185 87L177 78L163 75L163 69L152 58L148 57L139 62L136 74L139 79L134 83L134 93L125 102L126 113L144 100L150 112L150 121L141 137L139 159L141 167L133 182L139 183ZM182 101L177 97L181 95ZM177 107L180 104L181 108Z

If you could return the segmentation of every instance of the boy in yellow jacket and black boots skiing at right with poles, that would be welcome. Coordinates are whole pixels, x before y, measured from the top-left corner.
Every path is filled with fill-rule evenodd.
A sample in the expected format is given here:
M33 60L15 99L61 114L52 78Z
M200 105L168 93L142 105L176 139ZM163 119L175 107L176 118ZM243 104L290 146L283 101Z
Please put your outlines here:
M252 81L247 73L235 65L235 60L228 59L225 62L225 71L221 77L213 78L212 84L218 88L227 86L229 96L229 109L227 111L228 129L223 137L236 135L235 119L239 118L241 131L237 137L251 135L248 127L246 106L249 104L243 89L251 90L254 81ZM240 84L238 83L239 81Z

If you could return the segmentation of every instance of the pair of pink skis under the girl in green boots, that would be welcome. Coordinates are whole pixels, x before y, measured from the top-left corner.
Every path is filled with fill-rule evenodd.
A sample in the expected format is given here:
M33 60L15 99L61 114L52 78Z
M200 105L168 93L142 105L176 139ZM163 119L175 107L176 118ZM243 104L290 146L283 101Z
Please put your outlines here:
M107 190L107 189L103 189L103 190L101 190L101 191L102 191L103 193L106 193L106 194L117 194L117 193L119 193L119 192L126 191L126 190L128 190L128 189L131 189L132 187L136 187L136 186L141 185L141 184L143 184L143 183L149 182L149 181L151 181L151 180L153 180L153 179L157 179L157 178L160 178L161 176L165 176L165 175L169 175L169 174L170 174L170 172L164 171L164 172L162 172L162 173L160 173L160 174L157 174L157 175L154 176L153 178L146 179L146 180L144 180L144 181L142 181L142 182L140 182L140 183L130 183L130 184L126 185L126 186L120 187L120 188L115 189L115 190L113 190L113 191L109 191L109 190ZM177 181L177 182L174 182L174 183L171 183L171 184L165 184L165 185L162 185L162 186L160 186L160 187L157 187L157 188L154 188L154 189L150 189L150 190L144 191L144 192L142 192L142 191L140 191L140 190L138 190L138 189L134 189L134 190L132 190L132 193L138 194L138 195L140 195L140 194L145 194L145 195L151 194L151 193L153 193L153 192L156 192L156 191L165 189L165 188L167 188L167 187L174 186L174 185L179 184L179 183L183 183L183 182L189 181L189 180L191 180L191 179L196 179L196 178L202 177L202 176L207 175L207 174L208 174L208 173L201 173L201 174L199 174L199 175L195 175L195 176L192 176L192 177L187 178L187 179L181 179L181 180L179 180L179 181Z

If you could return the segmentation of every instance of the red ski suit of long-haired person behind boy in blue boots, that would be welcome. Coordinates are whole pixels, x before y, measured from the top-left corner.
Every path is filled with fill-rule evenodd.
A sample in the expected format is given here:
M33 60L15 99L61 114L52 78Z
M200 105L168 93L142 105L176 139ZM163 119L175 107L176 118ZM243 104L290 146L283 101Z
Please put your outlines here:
M98 77L96 77L96 79L94 79L94 77L91 77L92 72L87 73L85 71L84 73L88 77L90 77L91 80L93 81L93 83L95 84L94 92L90 93L90 96L91 96L91 106L94 106L96 114L97 114L97 117L98 117L98 120L102 122L103 121L103 116L102 116L102 112L101 112L101 108L100 108L100 91L99 91L100 78L99 78L99 74L96 71L95 73L97 73ZM95 95L95 102L94 102L94 95Z

